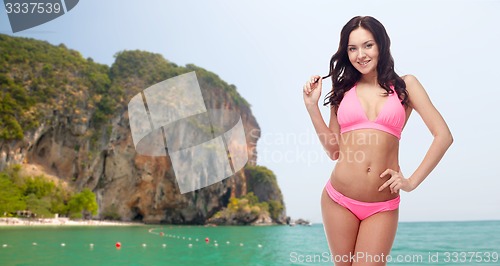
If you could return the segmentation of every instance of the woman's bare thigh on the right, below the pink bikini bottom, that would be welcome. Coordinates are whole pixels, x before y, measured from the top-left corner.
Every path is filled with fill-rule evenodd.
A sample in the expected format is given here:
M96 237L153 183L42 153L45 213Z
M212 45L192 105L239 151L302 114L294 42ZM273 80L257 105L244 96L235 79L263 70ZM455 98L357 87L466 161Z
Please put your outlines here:
M386 265L398 228L399 211L376 213L359 225L353 265Z

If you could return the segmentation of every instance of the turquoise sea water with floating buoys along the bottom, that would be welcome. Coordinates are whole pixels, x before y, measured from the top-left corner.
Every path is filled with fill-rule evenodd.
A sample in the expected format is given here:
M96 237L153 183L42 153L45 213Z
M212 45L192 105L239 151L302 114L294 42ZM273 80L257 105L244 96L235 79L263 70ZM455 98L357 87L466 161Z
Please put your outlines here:
M500 265L499 255L500 221L400 223L389 265ZM0 227L2 266L332 265L333 260L321 224Z

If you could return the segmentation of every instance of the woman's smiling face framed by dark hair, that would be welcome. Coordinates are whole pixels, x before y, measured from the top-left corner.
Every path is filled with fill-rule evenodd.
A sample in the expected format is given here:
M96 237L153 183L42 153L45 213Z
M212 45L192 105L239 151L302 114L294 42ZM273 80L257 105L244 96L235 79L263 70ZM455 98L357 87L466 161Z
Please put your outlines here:
M349 61L361 74L377 75L379 48L373 34L359 27L349 35L347 55Z

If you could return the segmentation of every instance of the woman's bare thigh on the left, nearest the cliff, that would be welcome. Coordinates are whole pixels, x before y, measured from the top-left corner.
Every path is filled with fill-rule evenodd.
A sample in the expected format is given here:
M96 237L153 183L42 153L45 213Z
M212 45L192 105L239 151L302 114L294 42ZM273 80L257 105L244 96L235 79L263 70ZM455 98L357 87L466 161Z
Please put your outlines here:
M330 252L337 258L345 258L337 260L335 265L351 265L350 255L354 253L358 235L358 218L333 201L325 189L321 195L321 213Z

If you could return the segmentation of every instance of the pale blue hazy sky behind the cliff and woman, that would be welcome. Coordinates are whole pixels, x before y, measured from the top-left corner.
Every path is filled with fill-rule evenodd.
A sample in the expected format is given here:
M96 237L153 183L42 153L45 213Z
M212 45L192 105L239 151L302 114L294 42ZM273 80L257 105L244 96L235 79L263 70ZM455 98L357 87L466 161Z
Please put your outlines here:
M494 0L84 0L15 34L1 10L0 33L64 43L108 65L117 52L140 49L216 73L251 104L262 130L257 163L276 174L287 215L320 223L335 162L317 140L302 86L328 73L349 19L373 16L391 38L396 72L419 79L454 137L427 179L401 192L400 221L500 220L499 13ZM330 86L324 82L323 96ZM328 107L321 110L328 121ZM400 142L406 177L431 142L413 112Z

